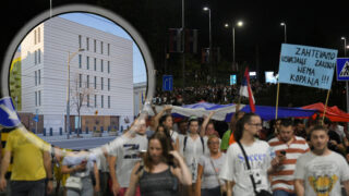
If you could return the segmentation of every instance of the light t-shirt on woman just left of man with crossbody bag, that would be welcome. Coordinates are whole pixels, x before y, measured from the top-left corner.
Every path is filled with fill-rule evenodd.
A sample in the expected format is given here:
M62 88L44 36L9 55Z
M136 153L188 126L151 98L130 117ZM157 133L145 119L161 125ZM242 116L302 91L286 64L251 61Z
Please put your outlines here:
M222 163L225 162L226 155L221 154L218 159L213 159L209 156L201 156L198 159L198 164L204 168L202 175L201 188L214 188L219 186L218 176ZM224 181L220 181L220 184L224 184Z

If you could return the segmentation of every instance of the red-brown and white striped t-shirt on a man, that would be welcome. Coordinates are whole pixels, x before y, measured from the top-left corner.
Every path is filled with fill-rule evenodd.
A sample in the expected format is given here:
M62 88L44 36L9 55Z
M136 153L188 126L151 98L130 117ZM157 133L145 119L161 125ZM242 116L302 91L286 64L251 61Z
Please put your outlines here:
M279 170L272 175L272 189L294 193L293 173L296 162L302 154L310 150L306 140L302 137L293 136L292 143L288 145L280 140L279 137L274 137L268 143L276 155L279 155L281 150L286 151L286 159L281 162Z

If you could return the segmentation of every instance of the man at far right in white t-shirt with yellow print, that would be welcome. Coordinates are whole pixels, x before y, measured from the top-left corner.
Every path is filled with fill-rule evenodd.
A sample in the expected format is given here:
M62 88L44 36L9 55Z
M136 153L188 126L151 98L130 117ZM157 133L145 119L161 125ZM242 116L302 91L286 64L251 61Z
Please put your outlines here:
M314 149L297 160L294 171L297 196L338 196L341 195L341 184L349 195L349 166L341 155L328 149L327 133L327 128L320 125L310 131Z

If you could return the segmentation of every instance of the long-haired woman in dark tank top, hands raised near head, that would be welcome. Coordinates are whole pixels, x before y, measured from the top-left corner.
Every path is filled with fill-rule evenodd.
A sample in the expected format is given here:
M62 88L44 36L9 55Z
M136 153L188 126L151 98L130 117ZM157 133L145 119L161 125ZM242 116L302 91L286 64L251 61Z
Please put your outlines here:
M170 149L171 144L164 133L155 133L149 138L144 161L133 168L127 196L133 196L137 185L142 196L174 196L179 183L192 184L184 160L178 151Z

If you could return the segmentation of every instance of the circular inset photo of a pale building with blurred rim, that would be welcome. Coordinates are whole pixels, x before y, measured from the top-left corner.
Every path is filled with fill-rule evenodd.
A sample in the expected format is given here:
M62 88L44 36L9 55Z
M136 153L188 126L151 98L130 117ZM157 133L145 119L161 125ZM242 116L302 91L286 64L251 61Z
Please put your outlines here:
M129 130L152 100L151 53L112 12L79 4L52 13L28 22L10 46L1 106L12 119L1 124L21 124L60 148L97 148Z

